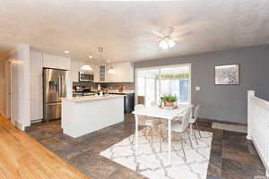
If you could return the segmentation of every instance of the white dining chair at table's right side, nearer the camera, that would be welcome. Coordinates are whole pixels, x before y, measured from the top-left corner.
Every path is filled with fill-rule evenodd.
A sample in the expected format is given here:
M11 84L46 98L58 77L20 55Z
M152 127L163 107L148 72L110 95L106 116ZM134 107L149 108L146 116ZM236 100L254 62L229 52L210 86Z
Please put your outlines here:
M178 122L178 123L173 123L171 126L171 131L176 132L178 134L179 141L181 143L181 148L182 148L186 162L187 162L187 158L186 158L186 153L185 153L181 134L187 132L187 138L189 140L191 148L193 148L193 143L191 141L189 128L188 128L190 117L191 117L191 108L188 108L183 116L179 114L178 117L174 120L175 122Z

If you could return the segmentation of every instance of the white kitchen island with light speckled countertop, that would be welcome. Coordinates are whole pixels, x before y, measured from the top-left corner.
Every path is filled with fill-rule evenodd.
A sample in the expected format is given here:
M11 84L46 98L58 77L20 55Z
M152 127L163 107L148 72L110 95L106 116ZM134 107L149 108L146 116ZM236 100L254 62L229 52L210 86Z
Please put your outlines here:
M77 138L124 121L124 96L105 95L62 99L62 128Z

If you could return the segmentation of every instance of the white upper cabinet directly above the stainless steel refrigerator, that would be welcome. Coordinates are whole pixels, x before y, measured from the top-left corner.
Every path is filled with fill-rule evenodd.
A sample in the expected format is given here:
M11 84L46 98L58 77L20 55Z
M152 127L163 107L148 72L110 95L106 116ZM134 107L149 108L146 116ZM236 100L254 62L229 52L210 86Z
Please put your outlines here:
M43 54L43 67L71 70L71 59L65 56Z

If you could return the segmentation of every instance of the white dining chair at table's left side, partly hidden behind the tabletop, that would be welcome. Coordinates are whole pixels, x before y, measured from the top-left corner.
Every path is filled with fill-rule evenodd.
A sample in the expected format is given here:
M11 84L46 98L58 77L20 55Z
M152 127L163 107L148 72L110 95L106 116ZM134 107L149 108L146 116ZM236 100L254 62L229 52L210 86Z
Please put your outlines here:
M134 107L134 111L142 109L143 107L144 107L143 105L136 105ZM138 125L143 126L144 137L147 137L146 134L147 134L148 130L150 130L149 132L150 132L151 138L152 138L151 141L153 142L153 129L156 128L158 130L158 125L160 124L159 120L151 118L151 117L146 117L143 115L139 115L138 117L139 117ZM132 143L134 143L134 137L133 137Z

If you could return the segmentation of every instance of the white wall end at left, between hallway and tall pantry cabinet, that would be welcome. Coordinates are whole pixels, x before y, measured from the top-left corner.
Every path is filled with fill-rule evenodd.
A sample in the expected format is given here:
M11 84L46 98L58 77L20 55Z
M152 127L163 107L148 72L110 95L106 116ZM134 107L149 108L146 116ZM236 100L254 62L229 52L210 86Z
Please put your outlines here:
M20 45L10 56L11 120L22 131L30 126L30 47Z

